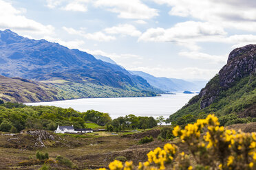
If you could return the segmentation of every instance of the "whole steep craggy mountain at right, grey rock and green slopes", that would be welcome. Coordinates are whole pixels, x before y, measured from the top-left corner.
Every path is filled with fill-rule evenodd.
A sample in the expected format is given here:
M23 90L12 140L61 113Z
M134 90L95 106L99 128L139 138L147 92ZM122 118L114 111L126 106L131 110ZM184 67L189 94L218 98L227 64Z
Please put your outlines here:
M169 120L190 123L209 113L220 117L222 125L246 123L256 117L256 45L231 51L220 72Z

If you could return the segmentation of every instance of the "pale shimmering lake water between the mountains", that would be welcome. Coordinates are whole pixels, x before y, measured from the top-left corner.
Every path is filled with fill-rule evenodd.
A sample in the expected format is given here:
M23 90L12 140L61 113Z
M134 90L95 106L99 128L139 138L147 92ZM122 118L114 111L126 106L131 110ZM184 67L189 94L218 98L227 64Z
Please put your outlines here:
M93 109L109 113L112 119L128 114L167 118L182 108L194 95L196 94L176 93L176 95L161 95L159 97L85 98L27 105L74 108L74 110L81 112Z

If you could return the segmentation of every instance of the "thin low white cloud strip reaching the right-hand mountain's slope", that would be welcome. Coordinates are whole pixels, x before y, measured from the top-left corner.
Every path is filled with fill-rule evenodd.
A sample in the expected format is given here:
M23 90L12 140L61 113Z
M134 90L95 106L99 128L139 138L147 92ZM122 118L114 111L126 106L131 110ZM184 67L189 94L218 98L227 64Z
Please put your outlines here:
M192 58L195 60L211 60L213 62L226 63L228 59L228 54L223 56L210 55L208 53L200 53L198 51L181 51L178 53L179 56L184 56L186 58Z

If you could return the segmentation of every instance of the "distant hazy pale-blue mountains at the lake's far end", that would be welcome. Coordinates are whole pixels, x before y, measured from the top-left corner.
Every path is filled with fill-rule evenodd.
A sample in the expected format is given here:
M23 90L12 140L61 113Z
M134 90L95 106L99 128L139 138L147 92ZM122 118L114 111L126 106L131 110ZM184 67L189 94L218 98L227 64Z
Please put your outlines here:
M129 71L131 74L143 77L151 86L160 88L166 92L184 91L184 90L201 90L202 82L200 84L194 84L182 79L167 78L167 77L154 77L148 73L142 71ZM204 84L205 85L205 84Z

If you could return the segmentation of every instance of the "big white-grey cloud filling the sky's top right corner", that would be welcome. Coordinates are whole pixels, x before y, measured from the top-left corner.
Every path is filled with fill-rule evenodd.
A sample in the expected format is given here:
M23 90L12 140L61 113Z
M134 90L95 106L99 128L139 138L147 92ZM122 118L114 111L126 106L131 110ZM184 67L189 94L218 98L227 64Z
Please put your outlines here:
M172 16L193 17L222 27L256 31L255 1L241 0L153 0L171 7Z

